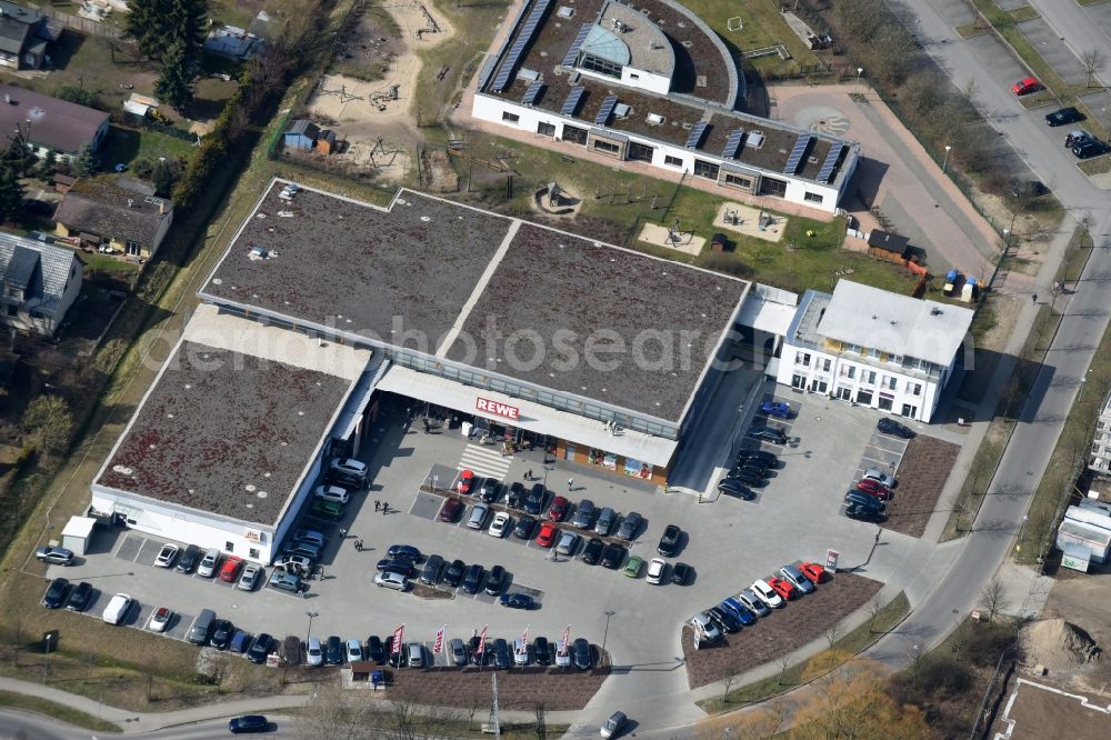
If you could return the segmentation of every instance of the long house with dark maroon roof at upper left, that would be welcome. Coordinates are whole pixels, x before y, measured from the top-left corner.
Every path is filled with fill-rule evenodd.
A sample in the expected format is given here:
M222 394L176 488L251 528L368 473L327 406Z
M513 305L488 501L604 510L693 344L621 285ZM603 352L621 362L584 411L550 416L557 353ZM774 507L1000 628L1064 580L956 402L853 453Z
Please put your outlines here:
M86 147L94 150L108 136L108 113L41 92L0 83L0 130L23 133L36 157L53 151L74 159Z

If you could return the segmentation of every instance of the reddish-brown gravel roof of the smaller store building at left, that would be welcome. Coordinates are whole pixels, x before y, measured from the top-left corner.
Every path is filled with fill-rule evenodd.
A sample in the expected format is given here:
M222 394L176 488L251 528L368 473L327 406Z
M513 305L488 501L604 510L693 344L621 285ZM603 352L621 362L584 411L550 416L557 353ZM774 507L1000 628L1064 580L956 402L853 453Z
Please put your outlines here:
M97 483L272 524L350 384L183 341Z

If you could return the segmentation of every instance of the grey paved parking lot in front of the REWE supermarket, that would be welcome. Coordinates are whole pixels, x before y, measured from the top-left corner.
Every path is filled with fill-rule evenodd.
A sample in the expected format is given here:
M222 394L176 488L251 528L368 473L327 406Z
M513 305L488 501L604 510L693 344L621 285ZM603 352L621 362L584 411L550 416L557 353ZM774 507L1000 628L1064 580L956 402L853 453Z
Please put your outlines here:
M768 391L773 393L774 388L769 386ZM302 527L328 537L322 574L308 581L303 596L268 588L246 592L218 579L153 568L151 563L164 540L120 530L99 534L92 554L70 568L52 567L51 574L74 582L89 580L100 590L101 596L87 612L91 617L99 618L107 603L103 594L118 591L131 594L140 604L129 614L130 626L144 626L157 606L174 609L179 617L169 627L170 638L183 637L202 608L213 609L237 627L256 633L268 631L279 638L304 636L309 621L306 613L312 611L312 634L320 638L334 634L344 640L366 640L368 634L384 637L404 624L407 641L423 642L431 649L441 627L447 639L466 640L488 628L489 639L510 641L526 629L532 637L558 641L570 627L572 640L585 637L597 648L604 642L614 666L674 666L675 657L681 654L680 626L694 611L735 594L784 563L798 559L822 561L827 548L834 548L841 552L842 563L851 566L864 562L874 544L874 526L840 514L844 490L862 461L889 460L899 452L887 440L874 438L875 414L822 397L787 393L775 398L789 400L798 413L785 421L758 420L783 428L792 441L782 448L759 443L780 456L780 467L760 489L755 502L721 497L700 504L694 497L661 493L638 479L563 461L546 467L541 452L511 458L499 454L483 466L473 466L486 472L491 472L491 466L494 471L501 468L504 483L521 481L526 488L532 484L524 481L527 471L531 470L541 482L547 477L547 503L553 494L567 496L572 502L569 516L573 503L583 498L598 508L612 507L622 516L639 512L644 522L628 547L630 556L645 561L657 557L663 528L678 524L683 536L677 557L669 562L692 566L693 576L687 586L651 586L643 572L629 578L621 570L588 566L580 559L582 540L575 557L552 560L549 550L536 543L534 532L532 538L521 540L512 534L493 538L486 530L468 528L469 508L454 523L439 521L443 496L422 492L421 487L450 488L460 463L481 462L477 454L487 448L458 430L444 428L424 433L419 423L407 429L403 414L383 417L369 430L363 458L370 466L371 484L353 498L348 517L340 522L302 520ZM743 441L745 446L755 443ZM574 480L573 490L569 490L570 478ZM463 498L469 499L469 507L473 506L473 499ZM384 513L376 511L376 501L388 502L389 509ZM504 498L496 508L503 506ZM512 516L516 520L518 513ZM363 542L362 551L353 546L357 539ZM871 578L884 580L913 548L910 538L890 539L883 558L869 566ZM376 588L376 563L386 558L386 550L393 543L412 544L448 562L458 558L467 564L480 563L487 571L501 564L507 571L506 591L533 596L538 608L506 609L493 596L482 591L471 596L442 583L437 587L442 593L436 594L442 598ZM788 609L810 608L803 598ZM609 619L607 612L611 612ZM439 656L437 664L447 664L447 656ZM685 686L682 673L660 671L648 680L654 690L670 692Z

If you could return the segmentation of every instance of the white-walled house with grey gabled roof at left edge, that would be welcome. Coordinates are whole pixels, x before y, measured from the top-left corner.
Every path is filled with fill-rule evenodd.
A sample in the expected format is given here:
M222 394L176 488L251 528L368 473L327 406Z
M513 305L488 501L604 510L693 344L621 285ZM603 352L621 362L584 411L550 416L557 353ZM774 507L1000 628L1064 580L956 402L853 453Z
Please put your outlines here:
M81 262L62 247L0 232L3 310L0 321L19 331L53 337L78 293Z

